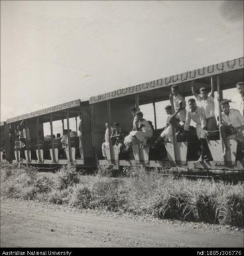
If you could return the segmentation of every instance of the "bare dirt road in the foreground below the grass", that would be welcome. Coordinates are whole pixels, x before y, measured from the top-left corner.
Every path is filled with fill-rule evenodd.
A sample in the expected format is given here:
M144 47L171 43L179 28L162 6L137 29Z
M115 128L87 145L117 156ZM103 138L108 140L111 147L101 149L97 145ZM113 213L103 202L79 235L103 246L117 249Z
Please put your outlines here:
M1 199L1 247L243 247L243 233Z

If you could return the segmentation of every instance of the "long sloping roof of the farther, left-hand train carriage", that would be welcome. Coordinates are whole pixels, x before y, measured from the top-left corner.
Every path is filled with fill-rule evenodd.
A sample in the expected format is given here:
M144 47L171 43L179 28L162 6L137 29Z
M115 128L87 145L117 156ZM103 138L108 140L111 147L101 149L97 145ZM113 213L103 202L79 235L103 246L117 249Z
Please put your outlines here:
M42 110L37 110L34 112L30 112L28 114L23 114L21 116L15 116L14 118L7 119L7 124L12 122L19 122L21 120L34 118L39 116L42 122L49 122L50 121L50 114L52 113L53 120L61 120L67 118L66 112L69 110L70 118L78 116L80 112L81 106L88 105L88 101L81 101L79 100L72 100L70 102L62 103L56 106L50 106L49 108L44 108Z

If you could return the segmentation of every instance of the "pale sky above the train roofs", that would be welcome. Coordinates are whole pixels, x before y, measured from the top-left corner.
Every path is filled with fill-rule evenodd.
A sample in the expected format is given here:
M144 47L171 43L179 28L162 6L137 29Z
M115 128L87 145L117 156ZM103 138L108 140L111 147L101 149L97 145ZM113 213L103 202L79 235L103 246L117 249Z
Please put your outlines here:
M1 1L1 121L243 57L243 1Z

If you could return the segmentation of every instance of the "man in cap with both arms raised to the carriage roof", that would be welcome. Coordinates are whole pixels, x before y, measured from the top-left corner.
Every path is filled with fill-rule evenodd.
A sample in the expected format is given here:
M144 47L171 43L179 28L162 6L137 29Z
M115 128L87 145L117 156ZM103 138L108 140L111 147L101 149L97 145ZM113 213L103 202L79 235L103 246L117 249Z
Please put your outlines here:
M207 122L206 130L217 130L217 122L214 114L214 85L211 85L211 92L209 94L206 87L201 87L200 94L197 94L194 87L194 82L192 82L192 94L194 94L194 96L196 97L196 102L198 106L200 106L202 110L204 110Z

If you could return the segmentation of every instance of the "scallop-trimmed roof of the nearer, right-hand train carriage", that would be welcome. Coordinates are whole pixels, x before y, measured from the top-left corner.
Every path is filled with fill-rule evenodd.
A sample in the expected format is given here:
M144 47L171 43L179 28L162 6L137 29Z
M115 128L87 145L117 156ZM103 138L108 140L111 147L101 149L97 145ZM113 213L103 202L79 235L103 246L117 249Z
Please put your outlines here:
M90 98L89 103L95 104L105 100L116 99L118 102L126 100L127 102L135 102L135 94L140 94L140 104L147 104L152 101L160 101L168 99L170 94L170 86L173 84L184 84L180 86L180 91L185 96L191 95L191 81L196 81L196 88L200 86L210 87L210 76L221 74L221 88L233 88L236 82L243 80L244 58L233 59L223 63L212 64L203 68L187 71L181 74L175 74L166 78L145 82L127 88L121 88L112 92L99 94Z

